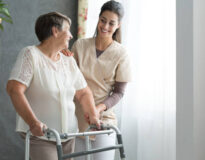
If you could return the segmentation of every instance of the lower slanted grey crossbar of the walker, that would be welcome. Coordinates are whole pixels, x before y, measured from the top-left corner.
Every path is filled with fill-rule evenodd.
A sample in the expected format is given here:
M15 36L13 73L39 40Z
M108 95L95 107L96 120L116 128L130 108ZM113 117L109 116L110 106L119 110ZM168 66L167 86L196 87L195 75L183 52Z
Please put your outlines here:
M103 152L103 151L108 151L108 150L113 150L113 149L119 149L121 147L122 147L122 145L115 145L115 146L109 146L109 147L105 147L105 148L92 149L92 150L89 150L89 151L75 152L75 153L63 155L63 159L72 158L72 157L79 157L79 156L84 156L84 155L87 155L87 154Z

